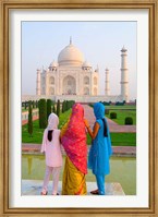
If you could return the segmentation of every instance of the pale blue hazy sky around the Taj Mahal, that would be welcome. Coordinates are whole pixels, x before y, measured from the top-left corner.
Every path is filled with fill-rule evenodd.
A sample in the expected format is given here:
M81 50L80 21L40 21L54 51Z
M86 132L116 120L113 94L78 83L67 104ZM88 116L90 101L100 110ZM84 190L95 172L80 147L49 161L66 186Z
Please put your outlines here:
M120 94L121 49L127 49L130 99L136 98L136 22L22 22L22 95L36 94L36 70L47 69L72 44L93 68L99 67L100 95L105 69L110 72L110 93Z

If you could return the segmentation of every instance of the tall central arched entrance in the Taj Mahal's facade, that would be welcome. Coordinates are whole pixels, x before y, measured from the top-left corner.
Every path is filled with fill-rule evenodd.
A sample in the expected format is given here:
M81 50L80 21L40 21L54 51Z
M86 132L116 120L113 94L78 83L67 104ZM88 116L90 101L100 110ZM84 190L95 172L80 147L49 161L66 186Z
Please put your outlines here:
M63 79L63 95L75 95L76 94L76 82L71 75Z

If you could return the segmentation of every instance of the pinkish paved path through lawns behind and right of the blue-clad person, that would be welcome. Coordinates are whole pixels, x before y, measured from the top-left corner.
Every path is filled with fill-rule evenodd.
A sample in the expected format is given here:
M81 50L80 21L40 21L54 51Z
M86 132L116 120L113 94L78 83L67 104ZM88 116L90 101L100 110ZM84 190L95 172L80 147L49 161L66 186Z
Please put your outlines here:
M84 110L85 110L85 118L88 120L90 126L94 125L95 123L95 116L94 116L94 109L89 107L88 105L83 105ZM135 133L136 132L136 125L120 125L116 123L114 121L108 119L108 124L109 124L109 130L111 133L117 132L117 133Z

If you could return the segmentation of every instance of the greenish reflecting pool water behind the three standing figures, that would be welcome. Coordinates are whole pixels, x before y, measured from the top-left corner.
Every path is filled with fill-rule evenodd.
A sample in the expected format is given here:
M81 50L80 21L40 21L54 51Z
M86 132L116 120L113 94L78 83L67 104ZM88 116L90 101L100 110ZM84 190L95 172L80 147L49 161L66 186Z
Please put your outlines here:
M64 165L64 157L63 157ZM106 177L106 182L119 182L126 195L136 194L136 158L135 157L111 157L111 172ZM44 155L22 155L22 179L42 180L45 176ZM63 167L62 167L63 171ZM60 180L62 180L62 171ZM96 181L95 176L88 170L86 181Z

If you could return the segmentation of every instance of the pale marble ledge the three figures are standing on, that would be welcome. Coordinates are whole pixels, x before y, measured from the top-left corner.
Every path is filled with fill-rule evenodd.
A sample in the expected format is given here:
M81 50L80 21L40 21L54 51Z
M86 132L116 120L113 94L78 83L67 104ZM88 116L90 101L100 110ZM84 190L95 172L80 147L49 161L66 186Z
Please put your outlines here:
M22 195L40 195L42 180L22 180ZM86 182L87 195L92 195L90 191L97 189L96 182ZM48 184L48 195L51 195L52 181ZM61 195L62 182L59 182L59 194ZM106 182L106 195L125 195L120 183ZM93 195L96 196L96 195Z

